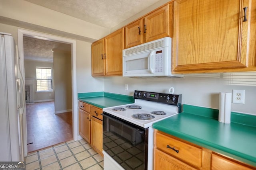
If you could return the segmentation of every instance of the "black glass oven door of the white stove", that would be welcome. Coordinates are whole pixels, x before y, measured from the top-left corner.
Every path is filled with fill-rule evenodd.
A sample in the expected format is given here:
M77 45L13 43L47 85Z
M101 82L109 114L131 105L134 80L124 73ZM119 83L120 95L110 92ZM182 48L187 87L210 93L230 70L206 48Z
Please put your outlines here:
M147 170L148 128L144 129L106 112L102 115L103 150L124 169Z

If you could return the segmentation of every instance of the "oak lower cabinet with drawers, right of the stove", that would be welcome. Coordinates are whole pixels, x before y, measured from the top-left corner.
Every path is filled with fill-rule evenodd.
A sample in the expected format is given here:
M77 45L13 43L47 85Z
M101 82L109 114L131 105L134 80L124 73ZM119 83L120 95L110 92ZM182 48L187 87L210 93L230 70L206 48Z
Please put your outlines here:
M155 130L154 170L256 170L256 167Z

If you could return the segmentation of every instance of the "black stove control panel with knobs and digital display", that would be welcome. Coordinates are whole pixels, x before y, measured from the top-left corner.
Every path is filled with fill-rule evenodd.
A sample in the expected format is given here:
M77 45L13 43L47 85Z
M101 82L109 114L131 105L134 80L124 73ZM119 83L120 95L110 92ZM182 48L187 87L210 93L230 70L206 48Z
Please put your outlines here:
M154 102L160 102L164 104L170 104L174 106L181 106L181 94L165 94L156 92L145 92L140 90L134 91L134 99L142 99Z

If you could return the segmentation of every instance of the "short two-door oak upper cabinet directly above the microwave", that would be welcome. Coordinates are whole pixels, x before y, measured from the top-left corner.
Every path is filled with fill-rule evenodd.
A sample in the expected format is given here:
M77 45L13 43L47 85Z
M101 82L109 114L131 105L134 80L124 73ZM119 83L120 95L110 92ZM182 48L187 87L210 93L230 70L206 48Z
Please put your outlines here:
M170 6L166 4L126 25L125 48L170 36Z

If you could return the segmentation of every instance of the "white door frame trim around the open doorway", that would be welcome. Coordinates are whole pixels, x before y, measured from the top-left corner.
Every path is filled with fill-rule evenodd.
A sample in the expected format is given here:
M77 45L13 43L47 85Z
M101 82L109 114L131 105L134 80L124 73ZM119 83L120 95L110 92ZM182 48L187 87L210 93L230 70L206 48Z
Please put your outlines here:
M44 33L38 33L34 31L28 31L24 29L18 29L18 49L20 52L20 60L24 76L24 51L23 51L23 35L29 35L34 38L57 41L61 43L69 43L72 48L72 119L73 119L73 139L78 140L78 102L77 102L77 86L76 86L76 41L72 39L57 37L54 35L48 35ZM26 109L25 109L26 110ZM26 112L25 112L26 113ZM28 154L27 144L27 129L26 129L26 114L23 118L23 135L24 135L24 156Z

